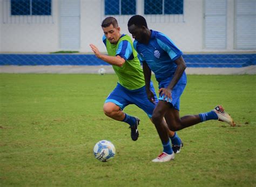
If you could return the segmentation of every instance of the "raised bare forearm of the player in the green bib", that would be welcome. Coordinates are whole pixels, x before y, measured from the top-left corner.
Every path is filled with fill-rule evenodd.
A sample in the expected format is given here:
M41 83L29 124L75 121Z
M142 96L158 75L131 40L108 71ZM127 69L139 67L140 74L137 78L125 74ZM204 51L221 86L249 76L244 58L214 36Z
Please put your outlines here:
M91 47L93 53L95 54L95 56L97 56L99 59L101 59L111 65L122 67L123 64L125 63L125 59L123 59L122 57L120 57L118 55L117 56L109 56L109 55L102 54L99 52L99 49L93 44L90 44L90 47Z

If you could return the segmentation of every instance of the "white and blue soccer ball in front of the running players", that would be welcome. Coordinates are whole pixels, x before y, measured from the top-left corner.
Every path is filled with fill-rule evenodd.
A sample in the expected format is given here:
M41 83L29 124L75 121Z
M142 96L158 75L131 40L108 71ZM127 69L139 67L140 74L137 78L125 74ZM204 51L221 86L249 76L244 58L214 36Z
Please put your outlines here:
M106 162L114 157L116 154L116 148L113 143L107 140L101 140L96 143L93 148L93 153L99 161Z

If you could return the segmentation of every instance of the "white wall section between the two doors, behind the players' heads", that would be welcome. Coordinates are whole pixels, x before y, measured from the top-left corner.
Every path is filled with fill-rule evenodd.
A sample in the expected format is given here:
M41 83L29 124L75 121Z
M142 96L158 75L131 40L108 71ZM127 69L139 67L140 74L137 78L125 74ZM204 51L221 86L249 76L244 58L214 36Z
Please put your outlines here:
M143 1L137 2L138 6L142 6ZM97 1L97 3L90 3L89 0L81 2L81 51L83 52L90 51L90 42L96 44L100 51L106 51L102 43L103 31L100 27L104 17L102 13L95 11L100 9L103 9L100 1ZM169 20L162 21L164 19L159 17L156 19L150 16L145 17L150 29L168 35L181 50L185 52L203 51L203 0L185 0L184 12L184 21L181 20L183 18L177 17L171 18L170 22L168 22ZM142 14L142 12L138 12L138 14ZM121 32L124 34L130 35L127 30L127 21L130 17L118 17Z

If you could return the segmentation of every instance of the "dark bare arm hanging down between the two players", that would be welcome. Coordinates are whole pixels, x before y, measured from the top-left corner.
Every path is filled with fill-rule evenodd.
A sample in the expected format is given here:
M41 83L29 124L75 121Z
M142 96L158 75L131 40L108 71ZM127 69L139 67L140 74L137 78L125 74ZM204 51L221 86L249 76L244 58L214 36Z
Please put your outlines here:
M154 93L150 90L151 69L149 68L149 66L147 66L146 61L142 62L142 67L146 85L145 88L147 92L147 98L150 100L151 103L154 103Z

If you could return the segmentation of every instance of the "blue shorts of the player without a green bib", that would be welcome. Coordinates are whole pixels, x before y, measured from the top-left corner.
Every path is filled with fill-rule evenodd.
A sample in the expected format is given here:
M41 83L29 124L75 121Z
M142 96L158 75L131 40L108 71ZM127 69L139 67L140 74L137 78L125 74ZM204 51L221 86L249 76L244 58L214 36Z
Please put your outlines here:
M160 88L167 88L168 85L170 84L171 82L171 78L165 80L165 81L161 81L159 82L159 89ZM180 96L181 94L183 93L184 89L186 87L186 83L180 83L178 82L175 87L173 88L172 90L172 99L168 99L165 98L164 99L164 95L163 96L160 96L159 94L159 100L166 100L166 102L169 102L172 104L172 107L176 110L179 110L179 103L180 103Z

